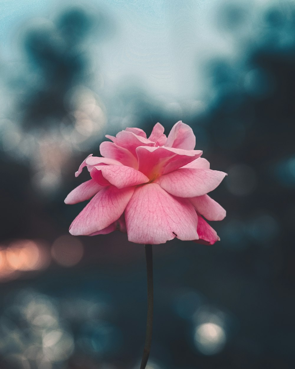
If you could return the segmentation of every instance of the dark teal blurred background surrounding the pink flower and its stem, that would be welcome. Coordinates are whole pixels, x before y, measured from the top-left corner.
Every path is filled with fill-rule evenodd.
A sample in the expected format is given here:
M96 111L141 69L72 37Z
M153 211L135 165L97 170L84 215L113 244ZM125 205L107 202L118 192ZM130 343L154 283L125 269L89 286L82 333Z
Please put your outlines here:
M63 200L105 134L178 120L227 217L153 248L147 368L294 368L295 2L62 3L0 4L0 368L139 368L144 247Z

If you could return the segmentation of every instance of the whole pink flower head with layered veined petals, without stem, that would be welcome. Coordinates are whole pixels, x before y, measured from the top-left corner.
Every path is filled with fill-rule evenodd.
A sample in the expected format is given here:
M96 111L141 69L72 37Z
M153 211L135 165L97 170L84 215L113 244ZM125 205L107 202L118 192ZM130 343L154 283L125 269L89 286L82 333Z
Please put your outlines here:
M152 134L126 128L112 142L103 142L103 157L89 155L84 166L91 179L66 199L76 204L92 197L70 225L72 235L127 232L138 244L162 244L174 237L212 245L219 240L204 220L222 220L226 212L207 195L226 173L209 169L209 162L194 150L192 129L181 121L168 137L157 123Z

